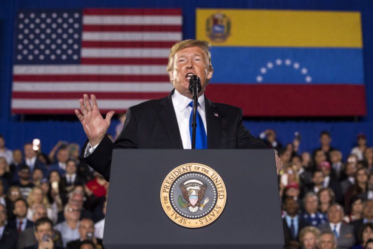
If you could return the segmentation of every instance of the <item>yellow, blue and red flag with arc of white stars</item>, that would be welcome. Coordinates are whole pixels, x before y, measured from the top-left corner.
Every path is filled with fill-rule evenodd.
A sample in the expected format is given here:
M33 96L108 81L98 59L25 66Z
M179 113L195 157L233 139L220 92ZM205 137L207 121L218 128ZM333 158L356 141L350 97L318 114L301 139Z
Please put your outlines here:
M361 30L360 12L197 9L206 95L245 116L364 116Z

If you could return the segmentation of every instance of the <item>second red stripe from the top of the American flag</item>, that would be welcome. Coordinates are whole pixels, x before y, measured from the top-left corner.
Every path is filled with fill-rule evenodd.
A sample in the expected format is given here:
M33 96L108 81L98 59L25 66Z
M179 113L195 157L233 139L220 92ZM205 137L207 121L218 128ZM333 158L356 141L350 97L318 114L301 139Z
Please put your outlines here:
M88 25L83 26L83 31L183 31L181 25Z

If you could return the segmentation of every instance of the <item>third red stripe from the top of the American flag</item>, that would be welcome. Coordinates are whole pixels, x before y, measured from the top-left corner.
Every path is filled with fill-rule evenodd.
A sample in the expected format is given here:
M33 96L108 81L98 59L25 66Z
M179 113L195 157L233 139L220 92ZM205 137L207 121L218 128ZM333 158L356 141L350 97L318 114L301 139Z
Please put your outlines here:
M171 48L177 41L82 41L82 47L95 48Z

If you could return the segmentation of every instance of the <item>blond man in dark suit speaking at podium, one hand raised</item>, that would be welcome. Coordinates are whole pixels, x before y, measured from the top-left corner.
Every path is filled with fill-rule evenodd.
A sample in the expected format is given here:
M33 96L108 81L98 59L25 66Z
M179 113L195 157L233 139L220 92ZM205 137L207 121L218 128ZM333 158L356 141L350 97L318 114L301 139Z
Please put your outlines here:
M189 103L192 95L188 86L193 75L201 82L197 110L204 126L199 126L204 128L199 133L204 146L200 148L266 148L243 125L241 109L212 103L205 98L204 90L213 73L209 49L210 44L205 41L185 40L175 44L167 67L175 90L166 98L129 108L123 130L114 144L105 135L114 111L108 112L103 119L95 96L91 95L91 104L85 94L79 100L81 112L75 110L75 114L88 136L83 147L87 163L109 180L113 148L191 148ZM280 159L277 161L279 171Z

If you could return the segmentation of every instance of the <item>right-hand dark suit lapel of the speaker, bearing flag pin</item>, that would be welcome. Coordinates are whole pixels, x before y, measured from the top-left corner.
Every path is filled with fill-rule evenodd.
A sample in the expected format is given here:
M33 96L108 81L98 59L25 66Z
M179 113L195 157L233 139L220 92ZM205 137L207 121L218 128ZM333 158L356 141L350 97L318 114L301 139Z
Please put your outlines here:
M219 148L221 135L221 114L216 110L215 105L204 97L207 126L207 148Z

